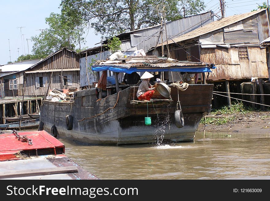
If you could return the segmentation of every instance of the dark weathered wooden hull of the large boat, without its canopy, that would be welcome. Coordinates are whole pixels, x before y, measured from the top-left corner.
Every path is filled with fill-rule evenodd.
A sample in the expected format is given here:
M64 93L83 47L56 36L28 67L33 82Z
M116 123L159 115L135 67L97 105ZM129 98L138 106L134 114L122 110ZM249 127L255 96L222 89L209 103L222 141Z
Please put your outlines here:
M43 101L41 121L44 123L44 130L51 132L52 126L56 126L58 137L87 144L119 145L192 141L199 121L210 112L213 86L204 85L203 93L207 92L207 97L203 97L202 100L193 102L188 100L185 103L184 97L190 97L194 90L198 94L199 91L203 91L201 87L199 85L190 87L189 92L187 90L181 94L185 123L182 128L178 128L174 122L177 103L175 89L172 89L172 103L168 103L168 100L162 100L162 103L153 101L153 103L149 102L148 106L147 103L140 102L133 104L132 88L122 90L120 95L113 94L95 102L90 96L95 89L88 92L84 90L76 95L74 103ZM107 108L110 109L106 111ZM151 117L151 125L145 125L147 114ZM73 117L72 130L67 130L67 115Z

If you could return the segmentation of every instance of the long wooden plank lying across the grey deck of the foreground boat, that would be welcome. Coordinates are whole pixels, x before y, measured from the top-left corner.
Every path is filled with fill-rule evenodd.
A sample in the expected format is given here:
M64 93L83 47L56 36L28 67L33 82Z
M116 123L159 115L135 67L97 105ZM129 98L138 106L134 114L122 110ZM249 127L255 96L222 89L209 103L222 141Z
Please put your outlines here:
M76 166L54 167L50 169L42 168L32 170L20 170L20 171L10 171L0 173L0 179L14 178L14 177L30 177L48 174L63 174L73 172L78 172L78 168Z

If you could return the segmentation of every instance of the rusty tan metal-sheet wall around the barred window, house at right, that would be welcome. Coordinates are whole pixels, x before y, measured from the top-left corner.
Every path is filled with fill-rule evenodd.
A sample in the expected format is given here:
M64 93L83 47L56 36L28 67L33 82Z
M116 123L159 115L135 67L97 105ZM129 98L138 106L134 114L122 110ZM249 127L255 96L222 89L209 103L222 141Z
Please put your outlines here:
M249 60L239 60L238 48L201 49L201 60L214 63L217 67L209 79L251 79L268 78L265 48L248 47Z

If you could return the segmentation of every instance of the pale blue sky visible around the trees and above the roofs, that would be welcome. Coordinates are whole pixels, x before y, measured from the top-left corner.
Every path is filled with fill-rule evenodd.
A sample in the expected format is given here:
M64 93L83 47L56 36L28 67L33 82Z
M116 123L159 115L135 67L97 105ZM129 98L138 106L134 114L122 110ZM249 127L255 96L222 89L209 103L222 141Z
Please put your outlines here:
M263 0L224 0L225 16L247 13L262 5ZM219 0L204 0L207 10L221 16ZM61 0L0 0L0 65L13 62L20 55L32 53L32 36L39 35L48 28L45 18L50 13L60 13ZM269 2L270 4L270 2ZM22 27L22 28L20 28ZM85 47L95 47L101 42L100 36L90 30L86 35Z

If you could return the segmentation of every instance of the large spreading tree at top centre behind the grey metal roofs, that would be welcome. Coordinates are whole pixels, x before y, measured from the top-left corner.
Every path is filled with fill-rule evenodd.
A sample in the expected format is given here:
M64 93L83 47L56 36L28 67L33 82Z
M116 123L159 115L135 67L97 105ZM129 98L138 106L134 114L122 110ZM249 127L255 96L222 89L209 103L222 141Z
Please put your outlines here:
M60 6L71 16L82 17L103 38L160 24L160 13L167 21L180 19L183 6L186 16L205 7L203 0L62 0Z

